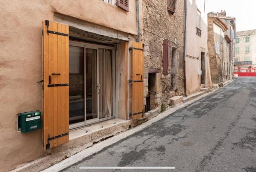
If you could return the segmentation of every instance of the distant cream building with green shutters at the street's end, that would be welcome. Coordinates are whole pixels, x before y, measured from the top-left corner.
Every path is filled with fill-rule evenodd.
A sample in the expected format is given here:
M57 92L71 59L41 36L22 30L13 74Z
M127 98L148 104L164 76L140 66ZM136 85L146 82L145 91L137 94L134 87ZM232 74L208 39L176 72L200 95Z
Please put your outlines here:
M256 67L256 30L237 32L234 39L235 69L251 69Z

